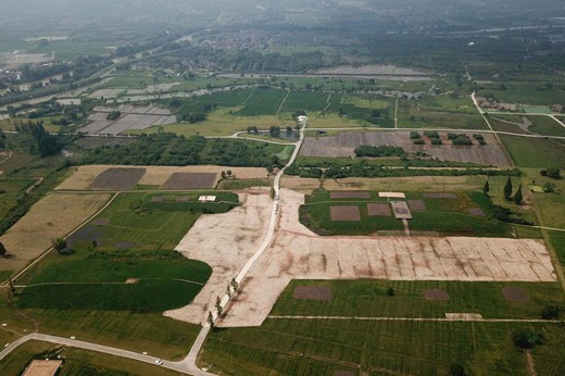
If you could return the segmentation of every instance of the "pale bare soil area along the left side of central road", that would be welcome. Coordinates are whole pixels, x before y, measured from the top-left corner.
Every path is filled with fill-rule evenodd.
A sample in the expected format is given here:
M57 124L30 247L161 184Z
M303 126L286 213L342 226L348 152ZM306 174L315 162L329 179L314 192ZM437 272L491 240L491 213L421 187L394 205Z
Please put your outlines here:
M273 209L269 189L252 188L237 193L241 206L225 214L202 215L175 248L188 259L209 264L212 275L192 303L167 311L165 316L193 324L205 323L208 312L214 310L216 297L224 296L227 284L263 242Z

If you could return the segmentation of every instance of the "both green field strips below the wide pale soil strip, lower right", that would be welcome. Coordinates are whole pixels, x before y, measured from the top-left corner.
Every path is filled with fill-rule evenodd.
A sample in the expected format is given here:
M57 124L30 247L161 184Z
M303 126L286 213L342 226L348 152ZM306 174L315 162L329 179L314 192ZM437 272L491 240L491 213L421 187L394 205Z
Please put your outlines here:
M298 286L329 287L331 300L297 300ZM387 287L395 294L389 297ZM529 300L508 302L502 288L523 289ZM444 289L449 301L426 301L424 290ZM538 318L547 304L565 302L558 283L292 280L274 316L444 317L480 313L485 318ZM258 328L213 330L202 364L215 373L263 375L445 375L452 364L469 375L528 375L526 356L511 333L531 329L545 343L531 350L540 375L565 371L565 330L558 323L267 318Z

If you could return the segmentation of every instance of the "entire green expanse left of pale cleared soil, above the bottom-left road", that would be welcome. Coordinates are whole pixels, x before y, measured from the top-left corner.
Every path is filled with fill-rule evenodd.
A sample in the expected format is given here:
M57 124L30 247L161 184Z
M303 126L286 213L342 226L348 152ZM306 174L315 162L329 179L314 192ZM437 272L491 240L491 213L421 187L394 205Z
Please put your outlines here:
M73 254L53 251L17 280L23 287L12 300L0 300L3 322L15 336L35 323L46 334L167 359L185 356L199 326L161 313L192 301L212 271L170 249L202 212L226 212L238 204L230 192L215 191L223 201L205 204L194 201L200 195L121 195L68 239Z

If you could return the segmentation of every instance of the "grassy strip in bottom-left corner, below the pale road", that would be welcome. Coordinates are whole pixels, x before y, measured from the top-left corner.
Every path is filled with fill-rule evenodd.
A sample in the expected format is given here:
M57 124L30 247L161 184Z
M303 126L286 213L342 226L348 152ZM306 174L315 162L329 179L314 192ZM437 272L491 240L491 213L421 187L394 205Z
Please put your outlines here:
M0 372L3 375L20 375L32 360L45 358L56 359L58 355L64 359L63 367L60 368L58 373L60 376L179 375L178 373L162 368L158 365L41 341L28 341L18 347L2 361Z

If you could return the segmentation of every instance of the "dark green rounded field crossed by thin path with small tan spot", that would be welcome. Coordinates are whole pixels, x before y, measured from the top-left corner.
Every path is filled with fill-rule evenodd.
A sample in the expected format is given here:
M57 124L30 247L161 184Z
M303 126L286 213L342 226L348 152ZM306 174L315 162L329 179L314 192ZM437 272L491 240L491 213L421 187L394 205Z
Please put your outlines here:
M21 309L163 312L186 305L212 270L173 251L51 254L24 278ZM163 291L166 291L164 294Z

